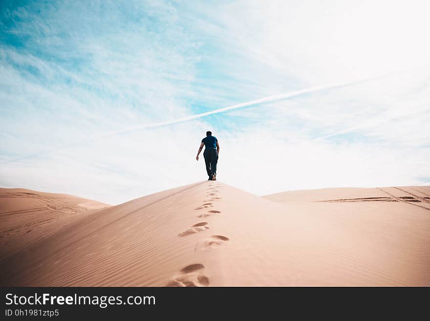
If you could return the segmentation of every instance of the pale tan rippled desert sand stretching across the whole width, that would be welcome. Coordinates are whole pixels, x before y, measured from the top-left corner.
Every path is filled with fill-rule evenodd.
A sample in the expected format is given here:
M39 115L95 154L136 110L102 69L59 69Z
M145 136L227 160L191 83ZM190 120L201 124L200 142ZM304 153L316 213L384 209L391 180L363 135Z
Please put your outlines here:
M67 220L14 191L0 198L3 286L430 285L430 187L259 197L203 181ZM24 233L45 216L53 227Z

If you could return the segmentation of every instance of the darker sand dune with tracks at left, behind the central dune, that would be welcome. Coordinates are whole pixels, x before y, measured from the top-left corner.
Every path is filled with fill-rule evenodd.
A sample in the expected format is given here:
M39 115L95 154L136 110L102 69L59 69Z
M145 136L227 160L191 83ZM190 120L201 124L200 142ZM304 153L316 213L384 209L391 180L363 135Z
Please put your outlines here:
M90 210L108 206L67 194L0 188L0 257L46 238Z

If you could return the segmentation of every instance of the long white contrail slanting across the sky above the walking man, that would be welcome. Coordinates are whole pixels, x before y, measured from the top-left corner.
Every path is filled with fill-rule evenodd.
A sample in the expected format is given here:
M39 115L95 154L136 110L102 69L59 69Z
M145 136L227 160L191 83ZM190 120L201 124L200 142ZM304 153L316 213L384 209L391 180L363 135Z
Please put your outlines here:
M325 85L325 86L316 86L316 87L310 87L310 88L306 88L306 89L301 89L301 90L296 90L296 91L291 91L285 94L279 94L279 95L273 95L273 96L268 96L268 97L264 97L264 98L260 98L260 99L256 99L256 100L252 100L246 103L241 103L241 104L237 104L237 105L233 105L233 106L229 106L229 107L224 107L224 108L219 108L219 109L215 109L215 110L211 110L211 111L206 111L206 112L202 112L199 114L194 114L191 116L186 116L186 117L182 117L182 118L178 118L178 119L173 119L173 120L168 120L168 121L164 121L164 122L158 122L158 123L152 123L152 124L145 124L145 125L141 125L141 126L136 126L136 127L132 127L132 128L127 128L127 129L123 129L123 130L118 130L118 131L113 131L113 132L109 132L103 135L99 135L96 137L91 137L88 139L84 139L84 140L79 140L79 141L75 141L69 144L64 144L64 145L60 145L60 146L56 146L53 147L51 149L48 150L44 150L42 153L49 153L55 150L61 150L67 147L71 147L71 146L75 146L78 144L82 144L82 143L86 143L88 141L94 141L94 140L98 140L98 139L103 139L103 138L107 138L110 136L115 136L115 135L119 135L119 134L124 134L124 133L129 133L132 131L137 131L137 130L142 130L142 129L151 129L151 128L159 128L159 127L163 127L163 126L169 126L169 125L174 125L174 124L178 124L178 123L183 123L183 122L188 122L190 120L194 120L194 119L198 119L198 118L202 118L202 117L206 117L209 115L214 115L214 114L220 114L220 113L224 113L224 112L228 112L231 110L235 110L235 109L240 109L240 108L244 108L244 107L251 107L251 106L256 106L256 105L260 105L260 104L265 104L265 103L273 103L273 102L278 102L281 100L285 100L285 99L289 99L289 98L293 98L293 97L298 97L304 94L308 94L308 93L313 93L313 92L318 92L318 91L323 91L323 90L328 90L328 89L335 89L335 88L342 88L342 87L346 87L346 86L352 86L352 85L357 85L360 83L364 83L364 82L368 82L368 81L372 81L375 79L379 79L382 77L374 77L374 78L369 78L369 79L364 79L364 80L358 80L358 81L351 81L351 82L343 82L343 83L334 83L334 84L330 84L330 85ZM11 159L4 163L12 163L15 161L19 161L21 159L25 159L25 158L29 158L29 157L33 157L33 156L39 156L41 155L41 153L35 153L35 154L31 154L31 155L25 155L25 156L21 156L15 159Z

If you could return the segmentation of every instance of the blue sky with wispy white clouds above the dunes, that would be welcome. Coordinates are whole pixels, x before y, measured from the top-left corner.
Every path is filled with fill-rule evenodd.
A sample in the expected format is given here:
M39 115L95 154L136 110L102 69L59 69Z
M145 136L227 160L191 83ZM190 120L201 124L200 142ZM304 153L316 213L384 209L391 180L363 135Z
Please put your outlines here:
M0 0L0 187L119 204L206 180L207 130L257 195L430 185L428 12Z

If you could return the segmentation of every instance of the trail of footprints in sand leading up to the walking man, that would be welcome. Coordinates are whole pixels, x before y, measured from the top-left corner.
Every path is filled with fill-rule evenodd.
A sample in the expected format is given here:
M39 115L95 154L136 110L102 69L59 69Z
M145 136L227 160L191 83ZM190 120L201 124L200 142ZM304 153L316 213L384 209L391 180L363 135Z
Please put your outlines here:
M206 196L212 196L210 200L205 200L204 204L196 207L194 210L199 211L207 208L214 207L213 202L215 200L222 199L218 196L218 187L220 185L213 184L209 185L208 193ZM197 215L198 218L209 217L212 215L221 214L220 211L217 210L209 210L205 213ZM192 235L198 232L203 232L209 230L208 222L198 222L191 226L186 231L180 233L179 237L185 237L188 235ZM215 247L222 245L225 242L228 242L229 238L223 235L212 235L202 242L196 244L196 248L199 246L201 250L211 250ZM177 276L173 277L172 280L167 284L167 286L208 286L210 284L209 278L204 274L205 266L201 263L194 263L183 267Z

